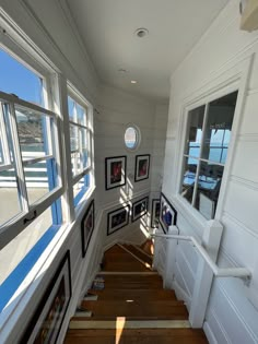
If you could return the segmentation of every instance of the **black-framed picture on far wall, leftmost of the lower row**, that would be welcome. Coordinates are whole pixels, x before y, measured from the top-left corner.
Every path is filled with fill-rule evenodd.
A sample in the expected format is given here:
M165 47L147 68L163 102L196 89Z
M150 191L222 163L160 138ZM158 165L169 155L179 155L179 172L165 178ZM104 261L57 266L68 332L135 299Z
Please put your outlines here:
M119 207L107 214L107 235L129 224L130 205Z

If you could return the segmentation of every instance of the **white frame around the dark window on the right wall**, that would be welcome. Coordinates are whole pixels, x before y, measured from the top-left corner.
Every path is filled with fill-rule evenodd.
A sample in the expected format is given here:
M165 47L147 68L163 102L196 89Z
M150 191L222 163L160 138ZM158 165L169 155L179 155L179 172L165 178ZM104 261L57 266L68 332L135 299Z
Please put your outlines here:
M228 146L226 163L224 165L223 178L221 182L220 195L218 199L216 210L214 214L215 220L221 220L223 214L223 205L225 202L226 185L228 183L230 173L233 165L234 146L236 145L237 134L241 126L241 115L245 104L245 95L249 81L249 71L251 68L253 56L237 61L235 67L231 70L221 70L220 73L213 75L213 80L209 84L204 84L190 96L183 99L183 117L179 122L179 132L181 133L177 142L177 153L174 162L175 178L175 198L177 200L178 210L181 212L188 211L192 216L192 221L197 228L206 226L207 218L180 194L181 176L184 173L184 151L187 134L187 121L190 110L211 103L220 97L225 96L232 92L238 91L234 121L232 127L232 138Z

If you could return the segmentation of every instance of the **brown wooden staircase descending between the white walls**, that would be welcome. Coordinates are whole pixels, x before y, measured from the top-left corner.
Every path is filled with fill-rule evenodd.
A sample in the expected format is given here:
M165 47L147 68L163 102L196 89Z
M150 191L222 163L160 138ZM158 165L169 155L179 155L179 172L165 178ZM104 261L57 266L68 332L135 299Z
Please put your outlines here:
M81 304L91 317L82 311L71 319L64 344L208 343L202 330L189 328L184 303L163 289L151 254L150 242L140 249L116 245L106 251L96 276L101 282L89 290L97 300Z

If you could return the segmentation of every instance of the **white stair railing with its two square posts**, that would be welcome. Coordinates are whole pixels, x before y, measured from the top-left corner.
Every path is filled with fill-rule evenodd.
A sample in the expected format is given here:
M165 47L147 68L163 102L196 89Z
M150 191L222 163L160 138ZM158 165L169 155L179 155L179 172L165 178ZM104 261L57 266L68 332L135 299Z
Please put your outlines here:
M165 245L165 266L162 273L164 286L178 289L180 297L183 297L187 304L189 311L189 321L192 328L202 328L206 312L209 304L209 296L211 293L213 276L216 277L239 277L244 280L244 283L249 286L253 277L251 272L246 268L219 268L216 262L220 241L223 227L218 221L210 221L202 235L202 244L199 244L192 236L183 236L178 234L176 226L168 228L168 234L155 233L153 238L166 239ZM159 239L159 241L160 241ZM191 295L181 289L178 285L176 277L176 251L178 241L188 241L196 249L197 253L202 258L198 262L196 270L196 278L194 290ZM155 244L156 247L156 244ZM159 251L161 250L161 244L157 244L156 263L159 265ZM162 249L164 252L164 249ZM154 252L155 261L155 252ZM175 280L174 280L175 278Z

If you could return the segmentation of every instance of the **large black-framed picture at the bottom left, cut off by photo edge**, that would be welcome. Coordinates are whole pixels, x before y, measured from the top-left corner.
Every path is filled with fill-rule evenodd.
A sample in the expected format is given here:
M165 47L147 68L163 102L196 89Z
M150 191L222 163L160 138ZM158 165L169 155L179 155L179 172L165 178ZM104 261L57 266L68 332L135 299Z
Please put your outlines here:
M20 343L55 344L70 299L70 251L67 251Z

